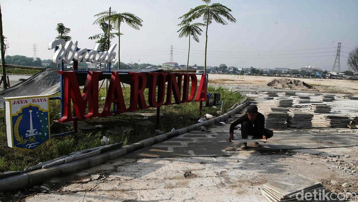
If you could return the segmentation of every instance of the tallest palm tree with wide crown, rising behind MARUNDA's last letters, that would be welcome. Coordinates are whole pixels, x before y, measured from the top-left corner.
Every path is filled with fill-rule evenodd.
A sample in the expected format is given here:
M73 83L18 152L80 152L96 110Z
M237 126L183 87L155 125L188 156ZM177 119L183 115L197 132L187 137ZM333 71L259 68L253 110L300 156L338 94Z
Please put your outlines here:
M206 59L207 59L207 48L208 48L208 27L212 23L213 19L216 23L220 23L222 25L228 25L227 21L223 19L221 16L227 18L232 23L236 22L236 19L230 14L232 11L228 7L221 5L219 3L210 4L210 0L202 0L205 2L205 5L197 6L193 9L190 9L188 13L181 16L179 19L183 19L182 23L190 23L196 18L203 16L204 24L206 24L206 41L205 41L205 69L206 73Z

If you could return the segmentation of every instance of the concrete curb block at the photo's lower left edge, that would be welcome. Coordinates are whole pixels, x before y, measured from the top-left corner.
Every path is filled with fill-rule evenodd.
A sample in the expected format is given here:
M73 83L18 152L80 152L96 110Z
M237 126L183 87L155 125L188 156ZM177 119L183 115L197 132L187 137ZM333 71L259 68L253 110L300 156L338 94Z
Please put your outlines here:
M17 190L28 187L29 185L29 175L27 173L21 173L0 179L0 191Z

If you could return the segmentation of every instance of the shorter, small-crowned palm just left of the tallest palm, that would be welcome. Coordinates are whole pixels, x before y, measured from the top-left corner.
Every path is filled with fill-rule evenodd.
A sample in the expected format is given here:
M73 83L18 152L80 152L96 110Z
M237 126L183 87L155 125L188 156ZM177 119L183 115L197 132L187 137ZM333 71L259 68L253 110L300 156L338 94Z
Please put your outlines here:
M199 42L199 37L197 35L202 35L203 30L199 26L205 26L203 23L181 23L178 26L182 26L177 32L180 32L179 38L183 36L189 37L189 50L188 50L188 62L187 70L189 69L189 53L190 53L190 37L192 36L194 41Z

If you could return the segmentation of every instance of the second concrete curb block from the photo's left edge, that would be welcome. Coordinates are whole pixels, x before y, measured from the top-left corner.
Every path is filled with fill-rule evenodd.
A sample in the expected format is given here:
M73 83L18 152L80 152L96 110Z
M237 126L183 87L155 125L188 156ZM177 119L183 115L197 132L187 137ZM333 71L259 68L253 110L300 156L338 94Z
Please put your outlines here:
M29 184L30 186L33 186L51 177L61 175L62 169L60 166L53 166L51 168L41 168L38 170L30 171L27 174L29 175Z

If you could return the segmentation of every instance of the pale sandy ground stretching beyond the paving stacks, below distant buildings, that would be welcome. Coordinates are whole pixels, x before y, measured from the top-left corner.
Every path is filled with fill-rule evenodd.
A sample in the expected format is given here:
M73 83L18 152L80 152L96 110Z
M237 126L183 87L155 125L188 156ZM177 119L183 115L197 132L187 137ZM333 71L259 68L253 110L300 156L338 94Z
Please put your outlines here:
M315 89L306 87L296 88L300 91L316 91L342 94L358 94L358 81L339 80L339 79L308 79L308 78L290 78L290 77L268 77L268 76L249 76L249 75L228 75L228 74L209 74L210 84L222 84L227 86L240 85L247 87L269 87L267 83L273 79L289 78L298 79ZM294 89L294 88L287 88Z

